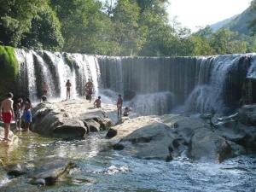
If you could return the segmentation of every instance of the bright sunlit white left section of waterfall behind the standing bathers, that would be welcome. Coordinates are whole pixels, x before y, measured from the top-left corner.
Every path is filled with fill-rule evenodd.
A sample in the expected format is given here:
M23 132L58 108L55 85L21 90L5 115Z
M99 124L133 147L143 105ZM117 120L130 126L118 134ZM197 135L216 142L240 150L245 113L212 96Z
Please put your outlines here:
M65 99L67 79L72 84L73 98L84 96L87 79L92 80L98 95L100 70L95 56L24 49L15 49L15 53L20 63L20 96L38 100L46 82L50 98Z

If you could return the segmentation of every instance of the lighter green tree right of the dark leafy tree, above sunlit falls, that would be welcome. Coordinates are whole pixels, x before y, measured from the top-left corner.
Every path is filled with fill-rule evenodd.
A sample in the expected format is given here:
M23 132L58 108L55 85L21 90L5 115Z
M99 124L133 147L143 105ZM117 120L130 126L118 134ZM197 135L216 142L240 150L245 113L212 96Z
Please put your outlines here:
M96 0L51 0L65 39L64 50L89 54L112 54L112 22ZM113 46L113 49L111 48Z

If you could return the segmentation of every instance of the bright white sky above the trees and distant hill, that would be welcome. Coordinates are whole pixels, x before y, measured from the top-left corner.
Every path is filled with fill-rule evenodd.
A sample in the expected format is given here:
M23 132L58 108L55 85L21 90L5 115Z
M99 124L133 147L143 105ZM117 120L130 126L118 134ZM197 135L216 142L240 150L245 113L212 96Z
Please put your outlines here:
M177 16L182 26L193 32L197 26L207 26L240 14L252 0L169 0L170 18Z

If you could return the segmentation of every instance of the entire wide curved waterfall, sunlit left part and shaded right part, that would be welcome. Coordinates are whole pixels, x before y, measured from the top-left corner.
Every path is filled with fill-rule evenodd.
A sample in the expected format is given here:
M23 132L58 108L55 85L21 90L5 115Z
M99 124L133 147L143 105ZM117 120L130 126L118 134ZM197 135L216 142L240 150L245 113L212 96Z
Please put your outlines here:
M70 79L73 98L84 96L91 79L95 96L116 102L118 94L140 114L170 113L183 106L191 113L230 113L245 94L255 101L256 55L198 57L117 57L15 49L20 63L19 93L38 100L44 81L49 98L66 98Z

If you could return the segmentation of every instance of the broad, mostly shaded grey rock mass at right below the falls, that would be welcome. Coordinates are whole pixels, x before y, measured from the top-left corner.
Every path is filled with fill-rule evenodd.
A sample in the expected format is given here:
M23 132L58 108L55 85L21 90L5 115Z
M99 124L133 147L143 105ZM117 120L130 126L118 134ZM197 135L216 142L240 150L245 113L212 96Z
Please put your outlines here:
M213 128L203 119L174 114L126 120L109 130L107 137L114 149L166 161L186 154L193 160L222 162L256 147L255 127L225 122Z

